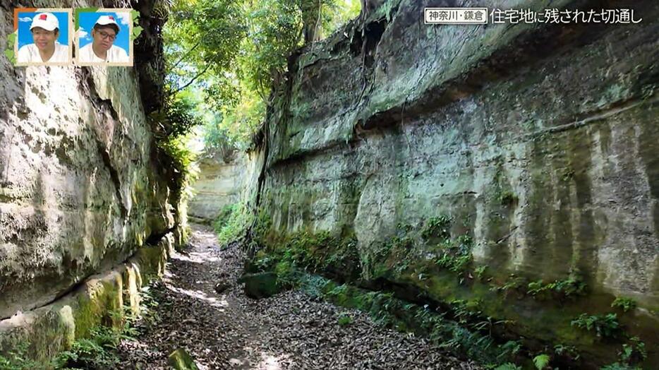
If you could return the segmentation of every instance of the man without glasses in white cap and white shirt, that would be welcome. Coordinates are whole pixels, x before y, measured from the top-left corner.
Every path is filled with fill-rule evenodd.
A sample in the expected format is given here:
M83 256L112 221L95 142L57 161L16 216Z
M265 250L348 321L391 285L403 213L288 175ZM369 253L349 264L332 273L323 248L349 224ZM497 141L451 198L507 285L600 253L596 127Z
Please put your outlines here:
M68 46L57 42L59 20L53 13L37 13L30 25L34 44L18 49L18 63L67 63Z

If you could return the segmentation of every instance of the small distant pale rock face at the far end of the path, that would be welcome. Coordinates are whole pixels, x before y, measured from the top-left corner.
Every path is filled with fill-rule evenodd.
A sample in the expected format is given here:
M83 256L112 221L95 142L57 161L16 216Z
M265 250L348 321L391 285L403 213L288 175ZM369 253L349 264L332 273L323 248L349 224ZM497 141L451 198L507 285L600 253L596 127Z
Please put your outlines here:
M198 222L213 222L222 208L238 202L246 178L247 157L236 154L229 162L207 157L198 162L199 179L195 197L188 205L188 215Z

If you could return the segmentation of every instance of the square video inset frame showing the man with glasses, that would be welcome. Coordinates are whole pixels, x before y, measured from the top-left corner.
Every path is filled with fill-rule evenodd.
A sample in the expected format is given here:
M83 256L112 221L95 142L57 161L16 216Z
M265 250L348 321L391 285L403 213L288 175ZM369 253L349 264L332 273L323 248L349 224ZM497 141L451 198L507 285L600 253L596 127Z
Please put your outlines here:
M100 9L76 13L76 64L80 66L133 65L131 9Z

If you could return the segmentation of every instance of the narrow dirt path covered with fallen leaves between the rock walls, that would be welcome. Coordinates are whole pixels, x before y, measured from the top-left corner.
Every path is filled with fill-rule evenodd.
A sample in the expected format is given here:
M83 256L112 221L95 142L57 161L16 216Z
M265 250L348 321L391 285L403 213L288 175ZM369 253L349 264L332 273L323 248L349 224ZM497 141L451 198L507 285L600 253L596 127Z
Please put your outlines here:
M121 344L122 369L168 369L183 347L200 369L476 369L421 338L376 326L355 310L291 291L254 300L243 294L243 256L220 251L211 229L193 225L191 246L149 289L159 321ZM221 294L218 281L229 282ZM351 316L339 325L339 316Z

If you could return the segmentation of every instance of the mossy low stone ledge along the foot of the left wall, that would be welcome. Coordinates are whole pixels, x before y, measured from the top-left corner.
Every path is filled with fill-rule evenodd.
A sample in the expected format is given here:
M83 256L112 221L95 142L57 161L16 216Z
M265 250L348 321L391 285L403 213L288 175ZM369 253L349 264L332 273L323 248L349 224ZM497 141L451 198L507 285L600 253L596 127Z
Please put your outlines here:
M85 338L94 326L119 325L112 311L122 312L125 304L137 313L143 285L164 273L174 250L175 232L166 234L155 246L139 249L111 270L89 277L52 304L0 321L0 354L28 342L28 355L47 368L57 353Z

